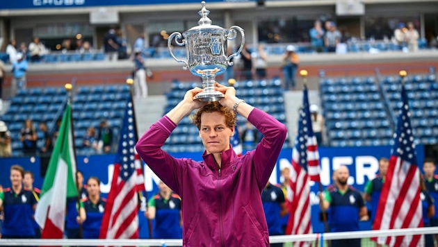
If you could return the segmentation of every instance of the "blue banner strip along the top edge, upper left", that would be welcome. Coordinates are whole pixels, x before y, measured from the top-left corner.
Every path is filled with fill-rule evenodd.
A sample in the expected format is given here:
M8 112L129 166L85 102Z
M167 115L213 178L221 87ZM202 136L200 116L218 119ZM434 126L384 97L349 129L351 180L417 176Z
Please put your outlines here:
M249 0L208 0L208 2L243 2ZM0 10L28 8L72 8L104 6L138 6L169 3L200 3L200 0L15 0L0 1Z

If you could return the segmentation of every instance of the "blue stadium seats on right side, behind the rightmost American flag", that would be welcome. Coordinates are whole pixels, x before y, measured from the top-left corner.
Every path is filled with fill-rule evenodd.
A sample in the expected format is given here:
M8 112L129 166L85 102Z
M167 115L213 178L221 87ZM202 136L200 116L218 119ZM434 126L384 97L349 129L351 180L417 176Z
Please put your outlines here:
M320 85L330 146L391 145L400 107L400 77L322 78ZM435 74L410 76L405 87L417 144L437 143Z

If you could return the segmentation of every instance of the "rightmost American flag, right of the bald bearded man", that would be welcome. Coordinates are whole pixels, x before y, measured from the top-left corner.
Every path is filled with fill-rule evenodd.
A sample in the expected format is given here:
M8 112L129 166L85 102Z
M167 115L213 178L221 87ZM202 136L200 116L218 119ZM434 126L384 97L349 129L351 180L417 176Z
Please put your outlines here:
M420 171L416 165L414 137L409 118L409 104L405 86L402 85L403 105L398 115L394 146L389 159L387 177L378 205L373 230L423 227L420 200ZM389 246L419 246L422 235L379 237L373 239Z

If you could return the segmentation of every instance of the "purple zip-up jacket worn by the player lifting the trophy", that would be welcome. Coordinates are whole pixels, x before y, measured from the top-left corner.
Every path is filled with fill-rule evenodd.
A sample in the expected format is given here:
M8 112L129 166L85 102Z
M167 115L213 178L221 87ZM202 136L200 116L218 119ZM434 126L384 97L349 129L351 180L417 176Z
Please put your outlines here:
M175 158L161 150L176 128L168 117L154 123L136 144L140 157L181 196L184 246L269 246L261 191L286 139L286 126L255 108L248 117L263 139L237 157L222 152L218 169L212 154L203 162Z

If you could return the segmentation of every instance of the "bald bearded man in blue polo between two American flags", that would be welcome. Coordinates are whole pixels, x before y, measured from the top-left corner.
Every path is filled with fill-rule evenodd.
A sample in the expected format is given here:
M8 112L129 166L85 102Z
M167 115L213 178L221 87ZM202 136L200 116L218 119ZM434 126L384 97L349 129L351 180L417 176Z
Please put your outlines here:
M348 168L344 165L336 169L336 182L332 191L325 190L318 196L320 207L326 212L330 207L331 232L346 232L359 230L359 220L367 220L368 212L362 195L348 186L350 176ZM332 240L332 246L361 246L361 239Z

